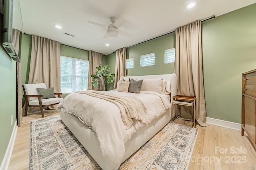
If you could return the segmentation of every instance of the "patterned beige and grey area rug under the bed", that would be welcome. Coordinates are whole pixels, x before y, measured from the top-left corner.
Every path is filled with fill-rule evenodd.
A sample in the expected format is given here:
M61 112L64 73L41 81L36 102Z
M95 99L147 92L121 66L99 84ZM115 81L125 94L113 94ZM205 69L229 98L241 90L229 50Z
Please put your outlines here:
M197 128L170 122L119 169L186 170L197 133ZM60 115L30 122L29 166L33 170L101 169L62 123Z

